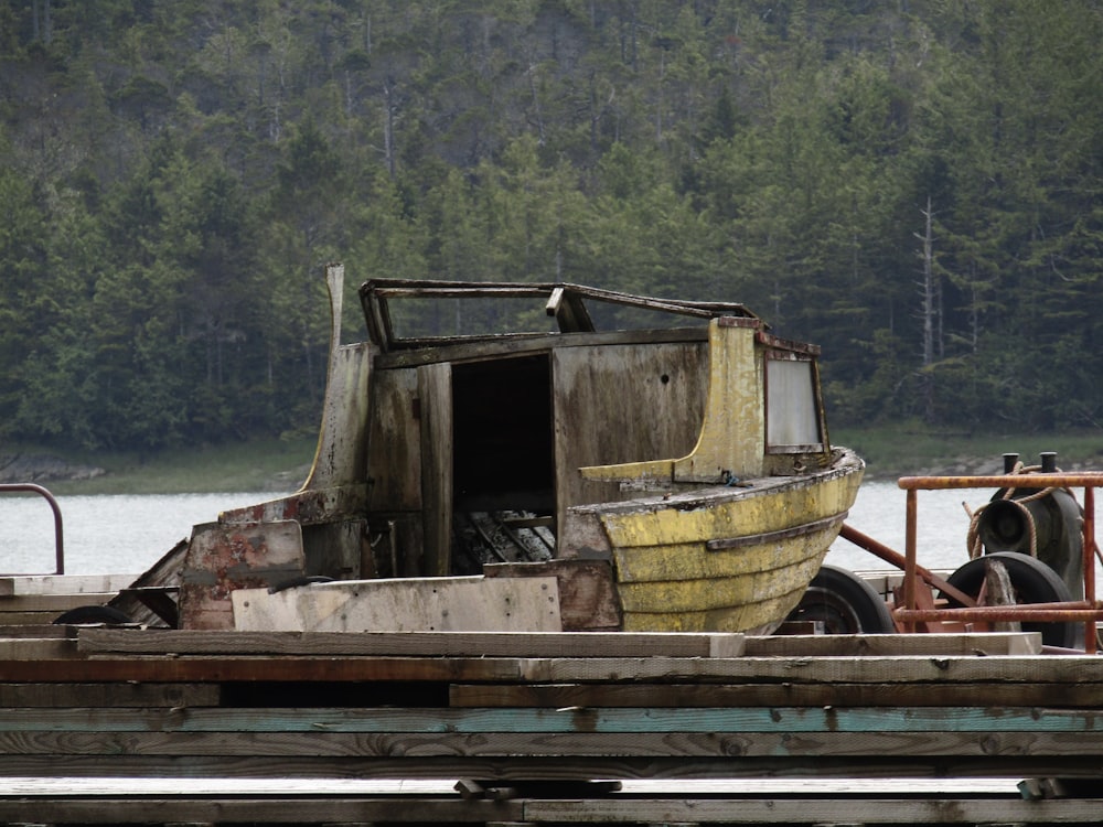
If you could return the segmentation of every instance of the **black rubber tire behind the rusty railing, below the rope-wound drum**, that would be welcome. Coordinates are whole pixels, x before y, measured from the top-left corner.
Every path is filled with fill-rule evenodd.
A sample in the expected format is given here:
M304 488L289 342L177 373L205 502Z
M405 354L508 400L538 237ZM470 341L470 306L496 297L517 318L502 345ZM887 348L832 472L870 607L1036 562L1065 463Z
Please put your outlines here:
M997 551L975 557L951 574L947 581L955 589L976 597L987 576L984 565L986 559L998 559L1004 563L1019 603L1063 603L1072 600L1069 587L1053 569L1038 558L1018 551ZM949 595L940 593L939 597L945 598L951 606L961 605ZM1024 623L1022 631L1041 632L1041 642L1046 646L1080 648L1083 644L1082 623Z

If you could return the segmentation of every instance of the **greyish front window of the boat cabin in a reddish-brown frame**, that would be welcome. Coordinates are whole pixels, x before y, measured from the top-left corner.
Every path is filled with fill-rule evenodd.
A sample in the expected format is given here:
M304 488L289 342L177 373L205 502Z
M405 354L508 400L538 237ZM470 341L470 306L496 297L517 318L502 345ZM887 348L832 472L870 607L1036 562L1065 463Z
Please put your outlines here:
M824 450L816 364L801 354L768 352L765 443L768 453Z

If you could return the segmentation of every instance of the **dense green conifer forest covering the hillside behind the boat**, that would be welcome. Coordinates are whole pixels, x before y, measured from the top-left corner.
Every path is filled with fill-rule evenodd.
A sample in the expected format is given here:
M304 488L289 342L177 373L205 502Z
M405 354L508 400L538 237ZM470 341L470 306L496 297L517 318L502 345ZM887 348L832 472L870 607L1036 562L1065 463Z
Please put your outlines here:
M1103 421L1099 0L2 0L0 441L317 423L322 265L741 301L834 422ZM350 334L352 335L352 334Z

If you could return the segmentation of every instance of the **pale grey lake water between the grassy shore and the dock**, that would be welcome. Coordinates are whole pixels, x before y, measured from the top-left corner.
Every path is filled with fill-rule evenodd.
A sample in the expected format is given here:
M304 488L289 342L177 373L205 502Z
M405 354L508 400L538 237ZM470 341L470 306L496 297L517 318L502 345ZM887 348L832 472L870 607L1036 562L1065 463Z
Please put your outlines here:
M1078 492L1078 498L1082 492ZM69 574L141 573L192 526L210 523L218 513L283 496L280 492L229 494L120 494L58 497L65 537L65 571ZM971 508L984 504L989 491L921 491L919 561L932 569L956 569L968 555L965 537ZM847 519L858 530L900 554L904 551L906 494L896 482L863 484ZM880 559L839 539L827 561L856 571L889 568ZM39 496L0 496L0 572L53 571L53 512Z

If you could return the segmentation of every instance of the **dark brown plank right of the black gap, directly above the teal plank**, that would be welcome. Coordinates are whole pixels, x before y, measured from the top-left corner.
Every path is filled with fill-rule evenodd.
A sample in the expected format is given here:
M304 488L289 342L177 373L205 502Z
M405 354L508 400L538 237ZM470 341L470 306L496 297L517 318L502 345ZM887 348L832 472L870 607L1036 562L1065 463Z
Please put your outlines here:
M1103 707L1103 684L452 684L452 707Z

